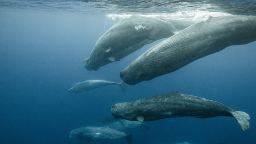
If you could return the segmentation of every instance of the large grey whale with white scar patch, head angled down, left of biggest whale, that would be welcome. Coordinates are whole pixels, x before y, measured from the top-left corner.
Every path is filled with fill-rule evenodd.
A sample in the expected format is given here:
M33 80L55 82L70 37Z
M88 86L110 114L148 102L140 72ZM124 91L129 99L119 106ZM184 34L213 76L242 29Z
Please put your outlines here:
M143 45L177 32L171 23L158 18L140 15L123 18L96 42L91 54L83 62L84 67L96 71L108 63L120 61Z

